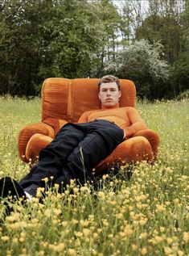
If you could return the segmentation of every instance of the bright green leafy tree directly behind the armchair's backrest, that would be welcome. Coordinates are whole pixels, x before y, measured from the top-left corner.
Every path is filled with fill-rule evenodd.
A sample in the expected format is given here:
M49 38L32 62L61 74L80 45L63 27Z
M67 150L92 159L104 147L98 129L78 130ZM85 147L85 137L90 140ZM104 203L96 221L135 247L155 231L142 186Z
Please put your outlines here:
M55 39L48 40L54 56L51 64L54 75L69 78L90 75L90 66L101 40L101 26L92 4L85 0L63 0L56 11L58 19L52 24Z

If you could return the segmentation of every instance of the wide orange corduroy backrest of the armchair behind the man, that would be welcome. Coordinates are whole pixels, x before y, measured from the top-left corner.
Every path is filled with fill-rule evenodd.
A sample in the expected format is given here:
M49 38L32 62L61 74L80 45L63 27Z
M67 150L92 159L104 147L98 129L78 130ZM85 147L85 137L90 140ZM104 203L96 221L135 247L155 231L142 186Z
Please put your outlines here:
M47 78L42 86L42 121L47 118L76 122L84 111L99 109L97 78ZM120 107L135 107L134 82L120 79Z

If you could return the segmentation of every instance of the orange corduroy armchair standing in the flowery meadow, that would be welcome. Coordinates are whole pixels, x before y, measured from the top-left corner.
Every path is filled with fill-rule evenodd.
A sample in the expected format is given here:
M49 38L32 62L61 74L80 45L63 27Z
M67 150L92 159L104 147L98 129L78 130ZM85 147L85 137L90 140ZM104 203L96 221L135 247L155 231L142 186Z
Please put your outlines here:
M47 78L42 86L41 122L24 127L18 136L18 155L23 162L35 162L39 152L67 122L77 122L84 111L99 109L97 78ZM135 107L134 82L120 79L120 107ZM159 136L150 129L137 132L123 141L101 161L96 171L113 162L153 162L158 156Z

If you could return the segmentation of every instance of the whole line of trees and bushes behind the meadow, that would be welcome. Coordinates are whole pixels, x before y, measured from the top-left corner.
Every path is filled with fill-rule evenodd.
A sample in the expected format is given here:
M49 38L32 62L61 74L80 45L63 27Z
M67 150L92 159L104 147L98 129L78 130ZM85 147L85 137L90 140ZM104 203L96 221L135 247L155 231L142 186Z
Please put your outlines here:
M35 96L45 78L135 82L148 99L189 88L187 0L0 0L0 94Z

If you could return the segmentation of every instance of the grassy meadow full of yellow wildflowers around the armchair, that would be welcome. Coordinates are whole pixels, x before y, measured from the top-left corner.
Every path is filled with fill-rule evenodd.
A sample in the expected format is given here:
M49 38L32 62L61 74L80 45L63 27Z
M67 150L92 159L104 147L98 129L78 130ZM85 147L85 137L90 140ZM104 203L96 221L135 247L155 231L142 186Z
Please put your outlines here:
M29 171L17 155L20 128L40 120L40 101L0 98L0 178ZM158 132L158 161L134 166L130 180L104 175L99 190L49 191L0 225L0 255L189 255L189 103L138 103ZM4 206L0 205L0 217Z

